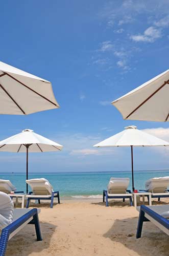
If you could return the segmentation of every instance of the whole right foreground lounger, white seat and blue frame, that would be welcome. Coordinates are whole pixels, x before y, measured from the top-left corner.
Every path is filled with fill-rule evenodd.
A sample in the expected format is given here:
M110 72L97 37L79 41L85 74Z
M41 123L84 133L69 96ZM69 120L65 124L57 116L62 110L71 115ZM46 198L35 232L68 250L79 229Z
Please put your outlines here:
M169 205L154 205L137 207L139 219L137 224L136 238L141 237L143 222L151 221L162 231L169 235Z

